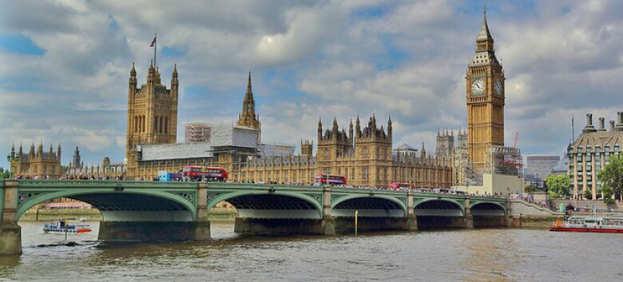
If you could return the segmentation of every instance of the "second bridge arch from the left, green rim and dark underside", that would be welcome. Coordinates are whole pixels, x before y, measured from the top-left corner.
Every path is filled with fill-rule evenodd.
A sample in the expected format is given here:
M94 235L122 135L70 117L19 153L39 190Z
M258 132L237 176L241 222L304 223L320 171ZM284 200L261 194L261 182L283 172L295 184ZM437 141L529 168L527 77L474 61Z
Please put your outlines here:
M284 191L240 191L224 193L208 200L208 210L226 201L238 211L239 218L322 218L322 204L304 193Z

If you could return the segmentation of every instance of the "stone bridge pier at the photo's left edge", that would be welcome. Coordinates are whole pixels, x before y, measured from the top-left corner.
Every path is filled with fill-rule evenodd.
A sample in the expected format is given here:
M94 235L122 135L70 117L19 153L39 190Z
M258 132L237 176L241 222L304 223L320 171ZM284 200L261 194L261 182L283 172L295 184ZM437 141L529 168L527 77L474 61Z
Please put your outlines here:
M5 180L1 191L0 256L19 255L21 227L17 225L17 181Z

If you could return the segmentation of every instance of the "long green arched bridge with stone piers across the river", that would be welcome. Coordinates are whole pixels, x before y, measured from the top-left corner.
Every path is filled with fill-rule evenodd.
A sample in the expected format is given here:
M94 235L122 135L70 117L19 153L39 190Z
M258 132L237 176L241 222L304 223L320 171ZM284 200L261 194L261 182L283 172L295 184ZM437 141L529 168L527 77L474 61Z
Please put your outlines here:
M333 235L507 226L505 198L329 186L102 180L0 180L0 254L21 254L21 215L59 197L102 213L100 240L210 240L208 211L226 201L235 232Z

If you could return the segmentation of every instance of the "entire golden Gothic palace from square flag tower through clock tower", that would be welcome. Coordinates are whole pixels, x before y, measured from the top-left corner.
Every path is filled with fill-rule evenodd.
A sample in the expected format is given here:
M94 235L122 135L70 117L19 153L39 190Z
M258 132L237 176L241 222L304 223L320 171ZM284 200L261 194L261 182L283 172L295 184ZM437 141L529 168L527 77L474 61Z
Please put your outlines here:
M428 153L406 144L393 146L391 118L372 114L354 121L320 119L314 140L281 150L262 143L259 115L251 73L242 111L235 124L213 125L204 141L177 143L179 78L174 67L170 85L163 84L159 68L147 69L147 80L139 85L132 65L129 75L126 179L153 179L162 170L175 172L184 166L219 166L239 182L310 183L316 174L338 174L353 186L388 186L409 182L417 187L450 187L455 149L463 148L474 168L484 166L485 151L503 146L504 73L494 53L486 14L476 37L476 54L467 66L467 131L437 134L437 148ZM325 123L323 123L325 121ZM276 150L280 149L280 150ZM59 158L60 159L60 158ZM118 173L118 172L117 172Z

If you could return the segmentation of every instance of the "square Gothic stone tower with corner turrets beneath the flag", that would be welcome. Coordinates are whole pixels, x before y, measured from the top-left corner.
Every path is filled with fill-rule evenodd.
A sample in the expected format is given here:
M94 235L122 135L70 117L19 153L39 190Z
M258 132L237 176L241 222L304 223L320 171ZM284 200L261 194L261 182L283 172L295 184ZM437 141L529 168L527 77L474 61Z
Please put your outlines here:
M128 175L136 168L134 150L141 144L165 144L177 141L177 103L179 80L177 65L171 74L171 87L161 83L154 62L147 69L147 82L138 87L134 63L127 91L127 157Z

